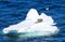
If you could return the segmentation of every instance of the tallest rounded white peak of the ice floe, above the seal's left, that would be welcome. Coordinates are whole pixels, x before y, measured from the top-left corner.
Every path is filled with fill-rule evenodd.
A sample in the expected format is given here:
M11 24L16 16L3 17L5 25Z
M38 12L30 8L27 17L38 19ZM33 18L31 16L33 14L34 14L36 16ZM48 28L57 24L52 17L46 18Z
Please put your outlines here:
M27 13L26 19L37 19L39 17L39 14L37 10L30 9L29 12Z

